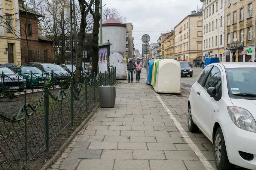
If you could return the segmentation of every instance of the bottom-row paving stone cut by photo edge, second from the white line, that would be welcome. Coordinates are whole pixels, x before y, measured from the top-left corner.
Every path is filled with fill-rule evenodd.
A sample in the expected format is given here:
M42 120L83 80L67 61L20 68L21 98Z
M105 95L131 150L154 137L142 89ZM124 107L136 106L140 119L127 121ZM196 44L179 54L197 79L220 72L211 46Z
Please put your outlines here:
M187 170L181 160L149 160L149 164L151 170Z

